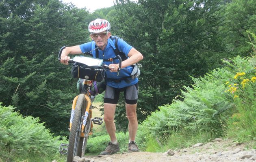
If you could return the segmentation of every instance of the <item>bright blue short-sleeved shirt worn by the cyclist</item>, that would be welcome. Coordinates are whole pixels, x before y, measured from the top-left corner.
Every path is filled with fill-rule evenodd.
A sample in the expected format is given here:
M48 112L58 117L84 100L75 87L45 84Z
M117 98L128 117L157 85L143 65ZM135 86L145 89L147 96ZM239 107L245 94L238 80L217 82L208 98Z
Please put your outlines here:
M130 46L128 43L126 43L122 39L118 39L117 45L118 45L119 51L122 51L126 55L126 57L128 57L128 53L132 49L132 46ZM96 58L94 41L79 45L79 47L82 53L90 52L93 55L93 58ZM116 58L117 56L115 55L114 48L115 48L115 42L113 42L110 38L108 38L108 43L104 48L104 50L102 51L101 49L98 48L99 58L106 59L106 60L109 58ZM107 65L118 64L118 63L119 63L118 59L115 59L112 62L104 61L104 64L107 64ZM119 71L118 76L117 76L117 72L110 72L109 70L107 70L106 77L110 78L110 79L106 79L107 85L115 88L123 88L123 87L128 87L130 85L135 85L136 83L138 83L139 79L138 78L132 79L129 77L130 74L132 73L132 70L133 70L132 66L127 66L125 68L122 68ZM129 77L129 78L120 80L118 82L111 80L111 79L122 79L124 77Z

